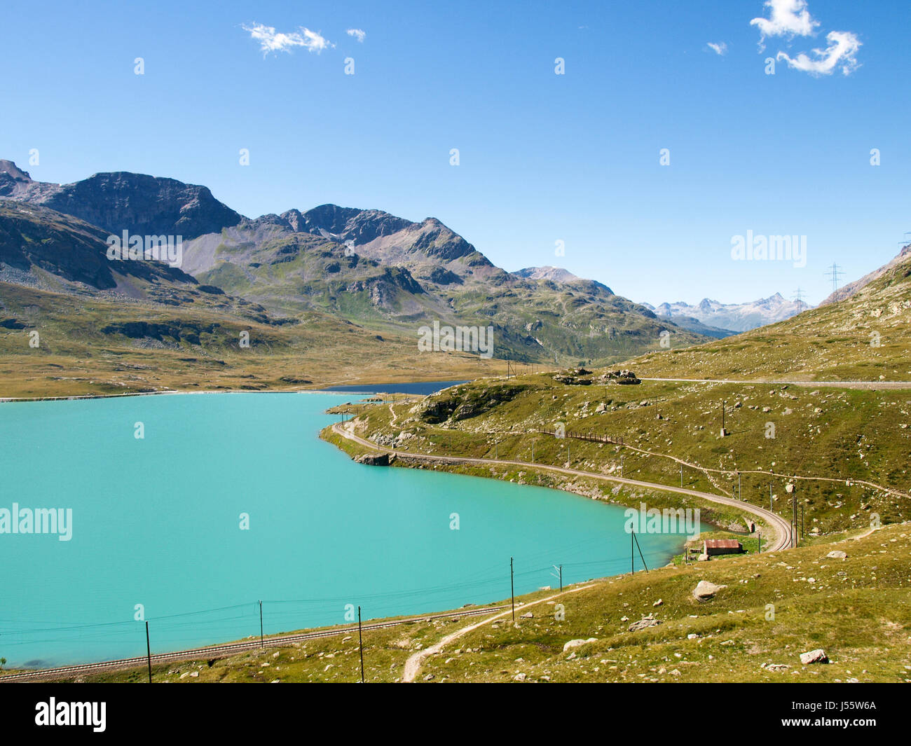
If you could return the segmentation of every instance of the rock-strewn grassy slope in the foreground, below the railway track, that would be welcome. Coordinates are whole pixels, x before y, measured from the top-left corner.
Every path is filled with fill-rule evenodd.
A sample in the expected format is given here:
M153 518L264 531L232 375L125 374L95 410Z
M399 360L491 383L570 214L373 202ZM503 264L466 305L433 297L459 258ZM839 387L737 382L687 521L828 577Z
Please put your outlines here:
M827 557L833 550L846 557ZM415 680L908 682L909 558L911 526L903 524L777 555L595 580L557 598L557 591L542 590L517 598L520 605L533 605L518 609L516 624L507 612L454 639L425 659ZM725 588L699 601L692 591L700 580ZM530 618L522 616L528 613ZM660 623L630 631L648 615ZM401 680L409 657L480 619L366 631L365 679ZM564 650L570 640L591 638ZM829 662L802 665L800 654L818 648ZM343 682L360 675L356 628L225 659L153 667L155 680L175 683ZM147 676L142 668L82 680L143 682Z

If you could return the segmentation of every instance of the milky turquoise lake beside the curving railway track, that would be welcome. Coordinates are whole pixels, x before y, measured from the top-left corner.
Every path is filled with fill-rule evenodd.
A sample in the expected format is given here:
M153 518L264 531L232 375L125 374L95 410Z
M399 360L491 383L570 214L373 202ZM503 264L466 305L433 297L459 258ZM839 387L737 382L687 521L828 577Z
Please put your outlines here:
M328 393L0 404L0 508L71 508L72 538L0 534L0 656L54 666L424 613L628 572L623 509L493 479L354 464ZM145 437L135 437L142 423ZM450 528L458 514L459 528ZM249 529L241 529L241 514ZM649 567L682 537L641 535ZM637 567L640 562L637 557Z

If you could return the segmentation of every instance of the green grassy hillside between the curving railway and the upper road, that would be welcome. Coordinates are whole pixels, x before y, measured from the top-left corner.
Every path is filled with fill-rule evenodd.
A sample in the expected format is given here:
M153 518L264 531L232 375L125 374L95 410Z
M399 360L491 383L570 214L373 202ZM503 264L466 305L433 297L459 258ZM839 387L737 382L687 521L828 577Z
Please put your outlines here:
M351 409L353 432L386 447L522 461L531 461L534 449L537 463L663 485L681 484L682 465L684 486L754 505L770 506L771 485L773 510L783 516L791 514L784 485L796 476L808 534L868 526L872 514L884 523L911 517L911 411L903 391L579 385L539 373L462 384L420 404ZM558 423L570 433L622 437L623 445L537 432Z

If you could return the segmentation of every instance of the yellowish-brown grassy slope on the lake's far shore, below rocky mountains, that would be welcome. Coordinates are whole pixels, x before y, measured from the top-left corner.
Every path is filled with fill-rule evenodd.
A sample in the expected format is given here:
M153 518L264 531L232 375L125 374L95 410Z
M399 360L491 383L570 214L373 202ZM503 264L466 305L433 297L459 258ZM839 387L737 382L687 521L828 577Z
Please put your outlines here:
M30 332L38 332L36 348ZM241 332L249 347L241 348ZM0 282L0 398L458 380L505 367L418 353L414 339L317 313L276 325L204 303L125 306Z

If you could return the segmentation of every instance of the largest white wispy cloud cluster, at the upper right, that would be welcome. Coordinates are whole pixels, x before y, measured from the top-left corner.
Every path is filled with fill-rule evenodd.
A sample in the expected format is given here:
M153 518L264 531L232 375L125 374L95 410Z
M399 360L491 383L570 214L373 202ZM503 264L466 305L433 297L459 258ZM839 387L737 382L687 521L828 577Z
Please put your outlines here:
M820 26L819 21L810 15L806 0L766 0L765 7L769 9L768 18L753 18L750 21L751 26L759 28L760 51L765 49L765 40L771 36L788 39L815 36ZM832 75L839 68L844 75L851 75L860 66L856 54L861 43L857 35L850 31L830 31L825 40L829 44L825 49L813 49L809 54L801 52L797 56L779 52L775 59L784 60L793 69L812 76Z

